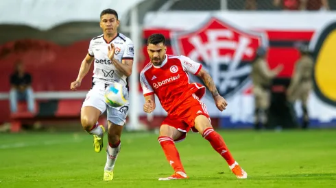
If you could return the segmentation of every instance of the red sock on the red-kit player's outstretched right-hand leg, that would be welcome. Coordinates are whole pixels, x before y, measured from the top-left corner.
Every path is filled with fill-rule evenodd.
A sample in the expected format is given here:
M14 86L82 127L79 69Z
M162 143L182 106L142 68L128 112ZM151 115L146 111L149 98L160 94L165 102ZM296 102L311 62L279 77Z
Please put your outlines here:
M202 137L210 142L211 146L223 157L228 165L235 163L228 146L226 146L224 139L213 128L207 128L204 130Z

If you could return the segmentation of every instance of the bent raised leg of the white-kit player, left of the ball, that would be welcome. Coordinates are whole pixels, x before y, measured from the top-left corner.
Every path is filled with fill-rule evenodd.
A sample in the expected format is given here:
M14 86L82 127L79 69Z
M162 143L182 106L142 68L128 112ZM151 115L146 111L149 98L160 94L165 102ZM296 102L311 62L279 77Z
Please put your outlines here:
M88 92L80 111L80 121L83 129L93 135L93 147L95 152L103 148L104 126L98 124L98 118L106 110L104 102L104 90L99 90L100 85L94 85Z

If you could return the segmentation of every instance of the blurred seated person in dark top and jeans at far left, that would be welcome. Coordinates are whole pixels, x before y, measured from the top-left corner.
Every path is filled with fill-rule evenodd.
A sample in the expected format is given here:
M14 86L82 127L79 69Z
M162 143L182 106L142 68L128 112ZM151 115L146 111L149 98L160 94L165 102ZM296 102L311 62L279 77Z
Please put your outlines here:
M30 112L35 111L34 92L32 90L32 76L25 72L23 63L16 62L15 70L10 76L10 110L17 111L19 100L27 100L27 107Z

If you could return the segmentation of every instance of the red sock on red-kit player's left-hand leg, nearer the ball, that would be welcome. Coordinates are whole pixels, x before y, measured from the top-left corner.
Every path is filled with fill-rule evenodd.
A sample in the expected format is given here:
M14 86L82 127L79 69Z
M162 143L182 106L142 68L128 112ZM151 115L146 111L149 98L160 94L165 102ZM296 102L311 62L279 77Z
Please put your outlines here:
M173 139L171 139L171 137L158 137L158 142L163 148L167 161L170 163L171 167L173 167L173 170L175 172L185 172Z

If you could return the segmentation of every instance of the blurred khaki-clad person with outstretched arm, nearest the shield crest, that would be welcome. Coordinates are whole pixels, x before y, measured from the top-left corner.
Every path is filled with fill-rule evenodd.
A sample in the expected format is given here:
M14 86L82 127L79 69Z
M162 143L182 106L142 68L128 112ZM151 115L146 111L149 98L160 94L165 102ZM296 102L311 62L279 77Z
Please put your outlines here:
M271 82L281 70L283 65L277 66L273 70L269 70L266 60L266 49L260 47L256 51L256 59L252 63L251 77L253 81L254 94L254 129L265 128L267 123L267 110L269 108L270 96L269 90Z

